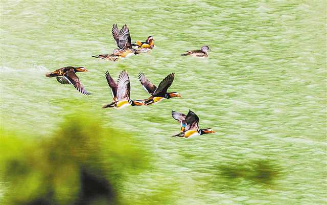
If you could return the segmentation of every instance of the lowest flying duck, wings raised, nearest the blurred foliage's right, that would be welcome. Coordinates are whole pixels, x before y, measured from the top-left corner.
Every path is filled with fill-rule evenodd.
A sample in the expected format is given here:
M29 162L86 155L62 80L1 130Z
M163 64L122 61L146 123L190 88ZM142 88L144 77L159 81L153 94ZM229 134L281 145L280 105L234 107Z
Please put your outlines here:
M189 110L188 115L183 113L172 111L172 117L181 123L180 133L173 136L179 136L181 138L191 138L192 136L215 133L211 128L200 129L199 128L199 117L191 110Z

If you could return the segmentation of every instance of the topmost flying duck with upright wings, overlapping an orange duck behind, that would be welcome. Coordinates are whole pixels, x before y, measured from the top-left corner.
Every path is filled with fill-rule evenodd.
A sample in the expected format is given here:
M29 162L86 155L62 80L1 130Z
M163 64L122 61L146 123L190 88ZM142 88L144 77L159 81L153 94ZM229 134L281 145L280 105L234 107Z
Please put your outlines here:
M124 25L123 28L119 30L117 25L114 24L112 25L111 33L118 49L114 49L112 54L100 54L92 57L116 61L119 58L147 52L147 50L144 49L136 50L132 48L131 36L127 25Z

